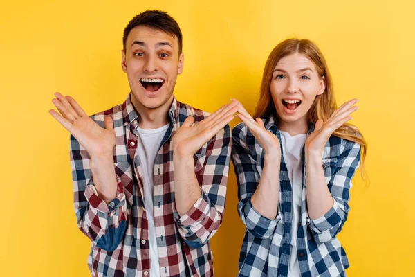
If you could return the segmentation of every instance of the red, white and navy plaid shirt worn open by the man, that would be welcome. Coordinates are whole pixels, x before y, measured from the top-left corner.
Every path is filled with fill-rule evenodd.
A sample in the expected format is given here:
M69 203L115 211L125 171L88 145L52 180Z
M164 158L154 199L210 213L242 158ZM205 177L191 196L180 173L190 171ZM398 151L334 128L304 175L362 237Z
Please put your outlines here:
M194 155L201 197L183 216L178 215L174 200L171 143L187 116L194 116L197 123L208 115L174 98L169 110L170 126L154 163L153 195L144 195L142 168L136 155L138 116L130 95L122 105L91 116L101 127L104 116L110 116L116 132L113 159L118 191L108 205L93 185L88 152L71 136L74 206L78 227L92 241L88 258L92 276L150 276L144 197L153 197L161 276L214 276L209 240L223 218L230 127L223 128Z

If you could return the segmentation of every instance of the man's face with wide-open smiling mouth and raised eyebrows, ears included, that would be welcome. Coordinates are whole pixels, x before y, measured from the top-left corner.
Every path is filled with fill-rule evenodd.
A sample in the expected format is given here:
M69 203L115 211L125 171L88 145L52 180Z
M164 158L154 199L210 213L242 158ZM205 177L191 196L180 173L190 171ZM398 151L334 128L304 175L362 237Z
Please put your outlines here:
M145 26L133 28L122 51L133 104L147 109L169 105L177 75L183 71L183 53L175 36Z

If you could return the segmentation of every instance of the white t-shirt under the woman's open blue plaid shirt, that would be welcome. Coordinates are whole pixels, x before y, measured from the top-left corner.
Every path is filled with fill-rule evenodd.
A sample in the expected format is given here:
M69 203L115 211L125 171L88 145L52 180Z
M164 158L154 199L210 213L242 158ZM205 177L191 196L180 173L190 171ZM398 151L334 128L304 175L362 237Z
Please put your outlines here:
M297 231L298 222L301 219L301 197L302 197L302 165L301 152L308 134L297 134L290 136L287 132L279 131L281 134L281 145L284 161L288 170L288 177L293 188L293 220L291 222L291 256L288 265L288 277L301 276L297 258Z

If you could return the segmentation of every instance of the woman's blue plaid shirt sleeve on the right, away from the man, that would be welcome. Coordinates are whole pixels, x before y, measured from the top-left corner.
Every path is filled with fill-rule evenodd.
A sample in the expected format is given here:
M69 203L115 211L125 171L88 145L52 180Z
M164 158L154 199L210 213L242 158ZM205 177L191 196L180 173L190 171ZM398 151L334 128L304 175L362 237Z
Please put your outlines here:
M340 233L349 213L351 179L360 166L360 144L347 141L340 154L334 174L327 184L334 203L331 209L321 217L307 223L316 242L328 242Z

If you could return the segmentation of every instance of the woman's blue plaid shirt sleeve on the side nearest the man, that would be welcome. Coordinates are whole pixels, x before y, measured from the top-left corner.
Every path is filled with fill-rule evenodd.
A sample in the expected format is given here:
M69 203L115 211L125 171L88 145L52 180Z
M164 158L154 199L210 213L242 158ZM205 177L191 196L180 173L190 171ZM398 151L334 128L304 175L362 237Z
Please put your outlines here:
M256 154L252 154L248 145L255 148L255 137L248 134L248 127L243 123L234 127L232 131L232 161L238 182L238 211L246 229L256 238L270 238L279 220L268 219L255 210L251 197L259 184L261 164L257 163Z

